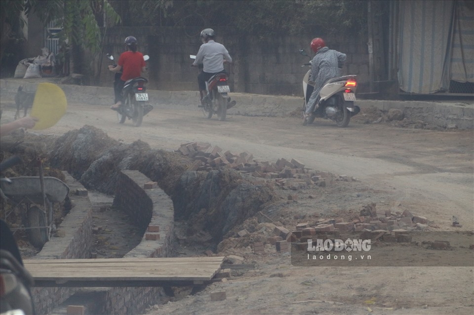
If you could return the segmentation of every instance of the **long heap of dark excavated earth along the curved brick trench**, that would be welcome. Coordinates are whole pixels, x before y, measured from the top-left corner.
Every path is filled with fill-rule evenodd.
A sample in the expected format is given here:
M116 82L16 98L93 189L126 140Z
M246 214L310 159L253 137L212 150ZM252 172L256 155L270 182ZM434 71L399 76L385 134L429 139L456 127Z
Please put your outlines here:
M175 220L192 223L187 236L208 233L215 244L278 199L272 187L255 186L235 170L187 171L192 161L179 153L152 149L141 140L123 144L91 126L66 133L49 151L52 167L104 194L115 193L120 170L140 171L172 198Z

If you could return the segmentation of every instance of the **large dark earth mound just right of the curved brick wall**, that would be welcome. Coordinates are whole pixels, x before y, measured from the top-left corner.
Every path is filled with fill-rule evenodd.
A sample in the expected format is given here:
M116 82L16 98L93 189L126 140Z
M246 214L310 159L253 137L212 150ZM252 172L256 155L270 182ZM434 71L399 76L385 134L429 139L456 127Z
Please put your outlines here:
M188 235L206 231L220 241L236 224L277 199L271 187L252 185L237 171L222 168L183 174L173 200L176 218L190 223Z

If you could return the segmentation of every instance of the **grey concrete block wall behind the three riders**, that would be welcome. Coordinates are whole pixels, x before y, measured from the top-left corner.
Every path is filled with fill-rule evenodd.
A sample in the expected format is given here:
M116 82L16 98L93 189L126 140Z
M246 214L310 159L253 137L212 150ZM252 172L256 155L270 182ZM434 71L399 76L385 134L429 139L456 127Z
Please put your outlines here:
M150 89L197 90L197 69L190 67L193 61L189 55L197 54L201 45L198 37L200 31L195 29L189 32L180 28L164 27L108 29L102 57L100 85L112 87L114 80L113 73L105 67L109 62L105 59L105 54L113 53L118 58L124 50L123 39L130 34L136 34L139 50L150 55L149 73L146 74L150 80ZM257 38L251 35L239 36L233 28L219 28L215 31L216 41L224 44L233 58L234 65L226 66L231 74L231 91L266 95L303 93L301 82L309 68L302 68L301 65L307 63L309 58L301 56L299 49L303 48L313 56L310 42L315 35ZM366 40L354 36L326 37L325 40L330 49L336 49L347 55L347 62L341 74L358 75L358 90L364 92L369 82Z

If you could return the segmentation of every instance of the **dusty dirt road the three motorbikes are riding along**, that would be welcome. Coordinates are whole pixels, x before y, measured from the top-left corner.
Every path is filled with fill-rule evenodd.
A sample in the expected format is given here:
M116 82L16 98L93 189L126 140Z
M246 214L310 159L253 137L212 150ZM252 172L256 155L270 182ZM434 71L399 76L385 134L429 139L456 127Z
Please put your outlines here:
M327 120L303 127L294 117L229 115L220 122L203 118L197 108L182 107L155 108L137 128L131 121L118 124L116 113L105 106L70 104L66 115L41 133L61 135L86 124L114 139L141 139L165 150L204 141L251 152L256 159L295 158L309 168L391 189L395 202L413 205L413 211L443 229L450 228L452 215L466 228L474 225L472 131L403 129L356 120L348 128Z

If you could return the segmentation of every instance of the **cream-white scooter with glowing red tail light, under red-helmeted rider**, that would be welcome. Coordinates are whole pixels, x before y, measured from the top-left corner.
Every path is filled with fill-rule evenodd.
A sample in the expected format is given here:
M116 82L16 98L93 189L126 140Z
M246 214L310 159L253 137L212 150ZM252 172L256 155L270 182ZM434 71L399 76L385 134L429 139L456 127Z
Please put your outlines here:
M304 49L300 54L308 56ZM310 63L301 67L310 66ZM303 125L312 124L316 117L333 120L338 127L347 127L351 117L360 112L360 107L354 105L356 101L357 76L344 75L329 79L319 91L315 109L309 115L304 115L306 105L314 91L314 83L310 81L311 69L303 77Z

